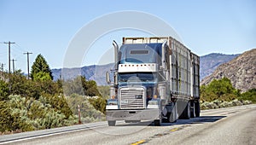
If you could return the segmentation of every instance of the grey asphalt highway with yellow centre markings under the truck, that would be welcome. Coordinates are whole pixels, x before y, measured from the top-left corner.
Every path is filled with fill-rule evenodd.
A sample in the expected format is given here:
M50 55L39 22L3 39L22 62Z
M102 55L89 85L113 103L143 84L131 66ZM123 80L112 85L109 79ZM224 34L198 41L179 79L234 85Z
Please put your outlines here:
M0 144L256 144L256 105L201 111L201 117L154 126L107 122L0 136Z

